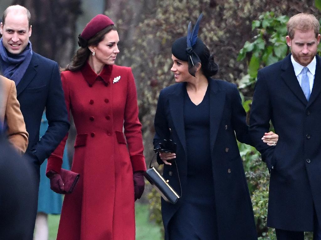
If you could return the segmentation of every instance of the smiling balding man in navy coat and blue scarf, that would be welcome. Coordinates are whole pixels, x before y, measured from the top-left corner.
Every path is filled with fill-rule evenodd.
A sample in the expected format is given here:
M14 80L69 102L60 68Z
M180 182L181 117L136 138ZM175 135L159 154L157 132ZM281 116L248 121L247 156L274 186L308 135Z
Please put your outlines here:
M69 129L58 64L32 51L30 12L20 5L9 6L0 24L0 69L16 84L17 99L29 133L25 155L37 188L28 207L32 209L30 235L37 213L40 164L50 156ZM48 130L39 140L41 117L46 108ZM1 236L0 236L1 238Z

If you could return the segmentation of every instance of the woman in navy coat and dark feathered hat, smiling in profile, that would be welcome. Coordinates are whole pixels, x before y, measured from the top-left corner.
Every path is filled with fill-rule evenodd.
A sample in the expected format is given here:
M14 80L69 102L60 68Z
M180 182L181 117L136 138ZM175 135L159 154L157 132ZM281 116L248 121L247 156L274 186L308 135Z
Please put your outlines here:
M165 239L256 240L236 139L252 142L237 86L210 77L218 66L197 32L174 42L172 60L177 84L160 92L154 122L155 148L164 139L177 144L176 153L158 155L164 178L181 194L176 204L162 199ZM275 145L278 136L265 135Z

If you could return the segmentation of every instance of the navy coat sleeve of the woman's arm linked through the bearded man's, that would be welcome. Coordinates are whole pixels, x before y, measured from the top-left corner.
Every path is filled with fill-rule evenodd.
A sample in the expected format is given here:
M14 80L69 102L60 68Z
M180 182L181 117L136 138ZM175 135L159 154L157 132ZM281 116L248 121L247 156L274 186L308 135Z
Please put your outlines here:
M233 90L232 124L237 140L239 140L242 143L253 146L248 131L248 125L246 123L246 112L242 106L241 96L236 85Z

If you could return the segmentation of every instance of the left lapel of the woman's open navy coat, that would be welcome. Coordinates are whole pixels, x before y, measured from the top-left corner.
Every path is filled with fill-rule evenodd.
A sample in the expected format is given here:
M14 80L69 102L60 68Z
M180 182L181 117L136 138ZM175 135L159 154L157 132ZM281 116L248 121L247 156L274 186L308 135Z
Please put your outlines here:
M186 153L186 138L184 128L184 91L185 84L177 84L175 92L169 97L169 109L178 138Z

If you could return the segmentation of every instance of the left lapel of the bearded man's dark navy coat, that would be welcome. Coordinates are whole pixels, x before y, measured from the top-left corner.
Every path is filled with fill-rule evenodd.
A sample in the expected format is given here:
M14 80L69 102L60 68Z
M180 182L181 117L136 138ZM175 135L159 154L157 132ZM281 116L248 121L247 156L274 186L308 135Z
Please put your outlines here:
M297 98L304 103L305 105L308 104L307 99L304 96L304 93L301 89L299 81L297 80L297 76L295 76L294 68L291 62L291 54L289 54L282 62L282 73L281 77L284 82L288 85L291 91L294 93Z

